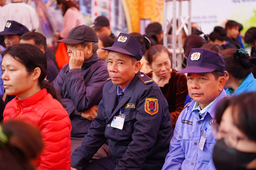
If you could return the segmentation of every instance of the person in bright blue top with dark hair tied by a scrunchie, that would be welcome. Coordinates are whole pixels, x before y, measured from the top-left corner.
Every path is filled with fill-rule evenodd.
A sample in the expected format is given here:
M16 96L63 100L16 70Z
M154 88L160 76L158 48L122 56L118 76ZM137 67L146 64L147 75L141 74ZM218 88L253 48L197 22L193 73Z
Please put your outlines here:
M247 51L227 49L220 53L226 60L224 88L228 95L239 95L245 92L256 92L256 79L252 74L253 65Z

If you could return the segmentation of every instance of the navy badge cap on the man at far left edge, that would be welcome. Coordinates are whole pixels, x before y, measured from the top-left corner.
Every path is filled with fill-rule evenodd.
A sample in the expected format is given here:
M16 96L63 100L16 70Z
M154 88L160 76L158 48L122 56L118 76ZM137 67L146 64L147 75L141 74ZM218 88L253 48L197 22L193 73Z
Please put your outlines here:
M0 32L0 35L23 35L24 33L29 32L27 27L16 21L7 21L5 24L5 29Z

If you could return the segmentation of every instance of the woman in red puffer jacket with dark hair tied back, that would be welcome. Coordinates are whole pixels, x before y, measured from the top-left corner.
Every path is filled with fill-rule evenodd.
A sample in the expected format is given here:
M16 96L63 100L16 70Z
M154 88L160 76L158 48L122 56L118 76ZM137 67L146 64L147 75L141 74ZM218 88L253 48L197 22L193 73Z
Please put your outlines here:
M16 95L5 107L4 123L19 119L40 130L44 148L34 160L37 170L70 170L71 123L46 81L46 57L30 44L12 45L2 56L5 92Z

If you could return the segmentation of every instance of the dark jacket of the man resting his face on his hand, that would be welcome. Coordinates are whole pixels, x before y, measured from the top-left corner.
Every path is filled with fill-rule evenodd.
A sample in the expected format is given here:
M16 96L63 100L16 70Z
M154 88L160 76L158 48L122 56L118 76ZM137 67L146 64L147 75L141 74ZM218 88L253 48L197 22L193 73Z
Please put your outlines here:
M83 63L82 69L69 70L69 64L64 65L52 82L62 96L62 103L67 105L65 109L70 115L72 137L87 134L91 121L82 118L81 112L99 104L107 78L107 63L94 53Z

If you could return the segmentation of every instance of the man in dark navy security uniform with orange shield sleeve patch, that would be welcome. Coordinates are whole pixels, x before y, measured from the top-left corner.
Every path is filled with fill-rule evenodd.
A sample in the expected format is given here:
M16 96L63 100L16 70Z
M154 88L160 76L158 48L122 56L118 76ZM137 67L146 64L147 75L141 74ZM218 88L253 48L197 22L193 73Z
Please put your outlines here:
M109 51L111 81L104 85L98 116L82 146L71 155L71 169L160 170L173 130L160 88L139 71L142 47L132 35L120 33L112 47L103 49ZM112 155L90 162L108 138Z

